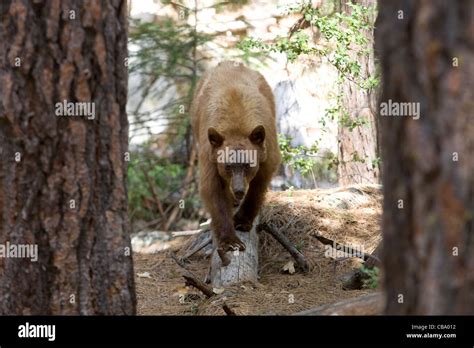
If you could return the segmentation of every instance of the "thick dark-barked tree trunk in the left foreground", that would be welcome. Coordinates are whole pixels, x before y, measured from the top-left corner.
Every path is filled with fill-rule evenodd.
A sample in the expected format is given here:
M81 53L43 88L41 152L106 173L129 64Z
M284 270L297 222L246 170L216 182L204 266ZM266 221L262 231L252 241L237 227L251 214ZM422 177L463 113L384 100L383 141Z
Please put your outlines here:
M134 314L126 0L4 1L0 20L0 244L38 246L0 258L0 314Z

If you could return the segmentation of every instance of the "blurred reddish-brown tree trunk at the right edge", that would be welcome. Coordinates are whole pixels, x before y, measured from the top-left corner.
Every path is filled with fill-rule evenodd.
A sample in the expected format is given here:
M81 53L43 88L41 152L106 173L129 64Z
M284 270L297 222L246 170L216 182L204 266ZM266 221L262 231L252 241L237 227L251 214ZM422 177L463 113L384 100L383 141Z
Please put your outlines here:
M474 314L474 2L379 6L386 313Z

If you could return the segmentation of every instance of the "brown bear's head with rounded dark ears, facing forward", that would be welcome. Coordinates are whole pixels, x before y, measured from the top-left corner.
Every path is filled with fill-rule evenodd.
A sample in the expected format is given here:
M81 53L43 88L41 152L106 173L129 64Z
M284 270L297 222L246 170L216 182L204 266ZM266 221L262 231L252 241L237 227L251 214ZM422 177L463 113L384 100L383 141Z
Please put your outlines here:
M238 204L247 194L260 162L266 159L265 127L255 127L248 136L224 136L210 127L208 139L212 147L212 161L217 164L219 176Z

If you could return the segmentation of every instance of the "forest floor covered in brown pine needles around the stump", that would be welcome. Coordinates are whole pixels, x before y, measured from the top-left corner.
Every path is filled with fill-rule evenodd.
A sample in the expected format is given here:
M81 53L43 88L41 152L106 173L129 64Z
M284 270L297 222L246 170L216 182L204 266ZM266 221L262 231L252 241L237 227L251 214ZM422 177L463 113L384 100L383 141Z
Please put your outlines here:
M290 254L265 232L259 234L260 267L257 284L226 288L207 299L199 290L186 287L181 269L169 256L178 255L195 236L175 238L169 249L153 254L134 253L138 314L225 315L222 300L237 315L293 314L323 304L369 294L374 289L343 290L344 276L359 268L361 260L335 261L314 233L338 243L362 247L371 253L380 241L381 190L377 186L351 186L272 192L260 214L297 246L310 264L308 273L293 274L283 266ZM189 258L187 268L204 279L209 263L205 250Z

